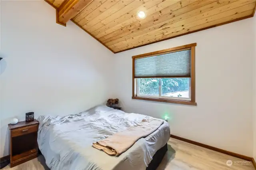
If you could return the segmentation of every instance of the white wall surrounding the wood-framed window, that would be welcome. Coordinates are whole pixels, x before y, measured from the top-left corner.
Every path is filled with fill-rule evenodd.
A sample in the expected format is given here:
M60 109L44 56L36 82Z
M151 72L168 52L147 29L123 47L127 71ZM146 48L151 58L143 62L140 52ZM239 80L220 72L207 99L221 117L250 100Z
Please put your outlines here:
M252 156L252 24L249 18L115 54L124 111L167 114L174 135ZM132 99L132 55L189 43L197 43L196 107Z

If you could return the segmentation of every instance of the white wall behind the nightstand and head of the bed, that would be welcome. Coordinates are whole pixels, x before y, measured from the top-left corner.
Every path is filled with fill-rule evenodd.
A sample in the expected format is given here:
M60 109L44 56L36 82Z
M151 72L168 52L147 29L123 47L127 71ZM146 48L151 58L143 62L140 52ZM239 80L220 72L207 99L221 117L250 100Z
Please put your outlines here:
M79 113L111 97L113 53L55 16L43 0L1 2L0 157L9 154L10 119Z

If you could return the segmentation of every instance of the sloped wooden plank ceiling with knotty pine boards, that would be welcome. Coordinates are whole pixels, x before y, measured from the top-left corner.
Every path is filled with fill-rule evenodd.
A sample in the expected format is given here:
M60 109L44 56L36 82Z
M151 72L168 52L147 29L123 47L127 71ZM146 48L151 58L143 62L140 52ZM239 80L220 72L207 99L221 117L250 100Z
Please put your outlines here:
M46 0L57 10L65 1ZM116 53L249 18L255 9L256 0L92 0L71 20Z

